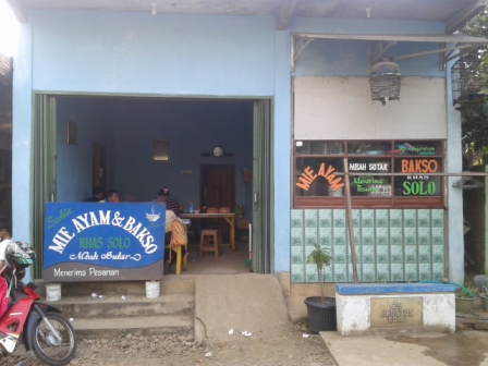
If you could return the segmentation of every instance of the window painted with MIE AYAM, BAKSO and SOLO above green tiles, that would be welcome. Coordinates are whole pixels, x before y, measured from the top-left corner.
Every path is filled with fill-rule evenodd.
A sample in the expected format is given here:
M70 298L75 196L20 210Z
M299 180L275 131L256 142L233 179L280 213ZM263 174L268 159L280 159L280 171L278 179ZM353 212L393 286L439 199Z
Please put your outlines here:
M305 141L295 152L295 196L342 196L324 167L341 179L344 158L351 196L427 197L442 195L442 141ZM401 174L401 175L400 175ZM337 176L335 176L337 175Z

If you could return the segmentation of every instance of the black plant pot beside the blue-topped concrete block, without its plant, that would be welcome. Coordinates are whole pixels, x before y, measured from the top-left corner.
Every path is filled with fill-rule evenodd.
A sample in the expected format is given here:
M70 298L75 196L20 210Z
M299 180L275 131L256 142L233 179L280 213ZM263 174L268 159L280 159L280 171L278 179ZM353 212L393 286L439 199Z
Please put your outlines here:
M308 327L314 333L326 330L337 330L338 320L335 315L335 298L310 296L305 298L308 314Z

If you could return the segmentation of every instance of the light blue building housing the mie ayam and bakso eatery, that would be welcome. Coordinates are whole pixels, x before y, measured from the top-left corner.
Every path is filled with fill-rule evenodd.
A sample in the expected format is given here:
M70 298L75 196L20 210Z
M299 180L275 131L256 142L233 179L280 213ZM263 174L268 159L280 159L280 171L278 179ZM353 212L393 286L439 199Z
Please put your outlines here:
M481 1L8 2L16 237L39 247L45 204L95 183L141 202L167 185L242 204L256 271L316 282L318 243L344 282L351 198L359 281L464 281L451 56L486 42L454 34Z

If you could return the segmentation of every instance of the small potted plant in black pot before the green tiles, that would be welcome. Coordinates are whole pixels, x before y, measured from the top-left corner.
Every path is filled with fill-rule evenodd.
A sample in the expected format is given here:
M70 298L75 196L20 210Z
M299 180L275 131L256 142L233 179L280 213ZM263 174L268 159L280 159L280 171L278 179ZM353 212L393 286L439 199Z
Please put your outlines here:
M326 283L324 281L324 268L330 265L332 257L329 251L314 244L314 249L308 254L307 264L314 264L317 268L317 278L320 283L320 296L305 298L307 306L308 327L318 333L325 330L337 329L335 298L326 296Z

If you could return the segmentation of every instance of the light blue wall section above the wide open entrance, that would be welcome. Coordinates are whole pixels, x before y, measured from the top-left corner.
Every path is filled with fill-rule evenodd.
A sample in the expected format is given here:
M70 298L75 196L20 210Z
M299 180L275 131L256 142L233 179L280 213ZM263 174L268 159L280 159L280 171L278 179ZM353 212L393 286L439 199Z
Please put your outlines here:
M35 89L274 94L273 17L38 11L32 22Z

